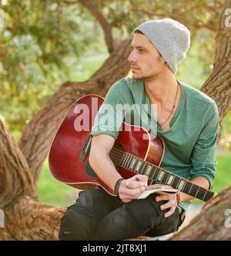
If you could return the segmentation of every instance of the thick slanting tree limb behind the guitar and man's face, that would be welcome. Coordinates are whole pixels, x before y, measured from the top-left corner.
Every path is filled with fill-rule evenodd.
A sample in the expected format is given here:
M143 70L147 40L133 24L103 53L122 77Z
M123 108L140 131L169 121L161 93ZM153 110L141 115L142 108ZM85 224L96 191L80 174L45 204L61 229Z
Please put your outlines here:
M33 173L35 183L38 180L42 163L49 153L55 132L72 103L89 93L105 96L112 83L129 72L129 63L126 59L129 56L130 42L131 39L122 42L88 81L63 83L25 127L19 147Z

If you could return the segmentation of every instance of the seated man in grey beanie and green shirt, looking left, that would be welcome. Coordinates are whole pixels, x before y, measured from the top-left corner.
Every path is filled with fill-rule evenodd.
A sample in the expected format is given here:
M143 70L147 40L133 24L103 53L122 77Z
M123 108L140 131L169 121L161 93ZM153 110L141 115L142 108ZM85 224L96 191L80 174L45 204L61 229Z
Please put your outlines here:
M128 59L132 79L119 80L107 93L92 128L89 156L95 173L118 197L102 188L80 192L79 199L62 217L59 239L122 240L143 234L169 234L178 230L182 224L180 209L186 209L192 200L182 192L179 197L151 194L137 200L146 189L169 186L147 187L147 177L140 174L122 179L109 158L121 123L114 122L113 126L100 119L107 104L112 109L118 104L154 104L157 135L166 147L161 167L206 189L213 187L219 123L216 103L175 77L189 43L189 30L172 19L144 22L136 28ZM129 113L119 114L124 118ZM149 130L152 126L153 122Z

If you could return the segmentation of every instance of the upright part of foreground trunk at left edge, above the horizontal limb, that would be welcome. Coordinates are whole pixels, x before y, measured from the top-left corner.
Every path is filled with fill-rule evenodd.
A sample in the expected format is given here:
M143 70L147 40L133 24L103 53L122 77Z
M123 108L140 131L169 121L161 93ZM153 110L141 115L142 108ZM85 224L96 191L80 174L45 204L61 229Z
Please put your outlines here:
M36 194L28 163L0 119L0 208L26 194Z

